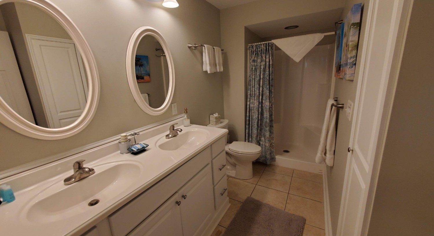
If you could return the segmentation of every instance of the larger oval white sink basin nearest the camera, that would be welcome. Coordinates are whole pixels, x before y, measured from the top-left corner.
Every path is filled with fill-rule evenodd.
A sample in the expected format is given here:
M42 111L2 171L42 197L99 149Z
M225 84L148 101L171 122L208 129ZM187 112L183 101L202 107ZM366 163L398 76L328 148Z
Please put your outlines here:
M94 175L71 185L64 185L63 178L59 178L60 181L41 191L23 210L27 220L53 222L91 210L98 205L89 207L90 200L107 203L134 184L141 173L140 165L135 162L114 162L92 168L95 168Z

